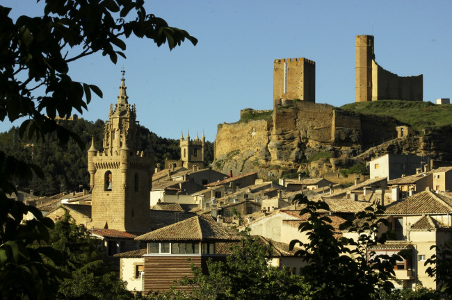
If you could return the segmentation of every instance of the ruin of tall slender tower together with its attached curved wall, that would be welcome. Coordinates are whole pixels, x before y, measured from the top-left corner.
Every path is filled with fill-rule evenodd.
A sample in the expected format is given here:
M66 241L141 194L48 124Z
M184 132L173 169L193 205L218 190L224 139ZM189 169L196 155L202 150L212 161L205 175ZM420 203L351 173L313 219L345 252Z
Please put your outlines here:
M355 101L423 100L422 75L401 77L376 63L373 36L356 36Z

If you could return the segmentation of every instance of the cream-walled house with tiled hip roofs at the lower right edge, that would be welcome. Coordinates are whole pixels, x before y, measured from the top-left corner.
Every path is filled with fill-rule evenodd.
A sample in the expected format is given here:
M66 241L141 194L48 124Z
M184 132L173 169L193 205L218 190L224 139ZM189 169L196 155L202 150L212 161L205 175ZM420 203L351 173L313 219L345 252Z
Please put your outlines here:
M381 249L391 249L392 252L408 249L412 252L412 260L396 266L396 276L403 280L403 286L414 289L421 283L426 288L437 288L435 278L426 274L428 266L424 263L437 254L430 247L444 244L452 238L451 215L452 197L430 190L413 194L387 207L385 217L389 220L389 228L386 230L393 230L395 236Z

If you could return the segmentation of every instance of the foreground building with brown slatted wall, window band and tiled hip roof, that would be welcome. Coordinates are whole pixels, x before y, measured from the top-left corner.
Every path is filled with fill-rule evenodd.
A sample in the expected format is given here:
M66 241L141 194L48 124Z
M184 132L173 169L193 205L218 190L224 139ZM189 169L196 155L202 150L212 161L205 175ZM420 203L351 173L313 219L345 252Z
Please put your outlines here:
M147 243L143 255L144 294L170 290L173 281L193 276L192 264L205 270L209 258L225 260L231 243L239 240L233 229L200 216L138 236L136 241Z

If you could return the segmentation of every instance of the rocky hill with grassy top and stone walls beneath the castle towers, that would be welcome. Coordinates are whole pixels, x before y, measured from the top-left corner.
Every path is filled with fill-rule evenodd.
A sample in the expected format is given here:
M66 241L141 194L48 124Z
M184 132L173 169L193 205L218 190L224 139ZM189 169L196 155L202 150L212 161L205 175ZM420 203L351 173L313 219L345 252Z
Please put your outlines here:
M414 133L398 137L398 126ZM259 172L275 179L299 173L341 181L386 153L452 161L452 106L382 100L328 104L293 101L275 110L241 110L233 124L219 124L213 167L234 174Z

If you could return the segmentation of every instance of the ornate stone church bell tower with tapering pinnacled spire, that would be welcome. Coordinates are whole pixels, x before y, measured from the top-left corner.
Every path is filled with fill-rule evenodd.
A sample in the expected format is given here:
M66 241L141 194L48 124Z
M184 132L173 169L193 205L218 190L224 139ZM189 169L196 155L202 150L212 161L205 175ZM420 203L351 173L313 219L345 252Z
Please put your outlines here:
M104 150L94 139L88 150L95 228L129 233L150 231L150 190L154 153L139 151L136 108L130 106L122 71L118 102L110 107L104 128Z

